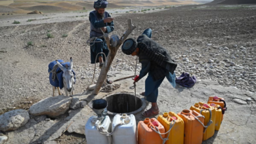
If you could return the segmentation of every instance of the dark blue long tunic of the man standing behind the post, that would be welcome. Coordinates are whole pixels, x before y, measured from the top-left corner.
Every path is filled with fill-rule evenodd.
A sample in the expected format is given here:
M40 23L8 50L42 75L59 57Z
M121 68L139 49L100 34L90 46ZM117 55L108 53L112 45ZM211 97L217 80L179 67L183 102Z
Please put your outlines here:
M95 16L94 11L90 12L89 14L89 20L93 28L98 29L100 27L106 27L107 30L105 33L111 33L112 31L114 31L114 22L112 21L110 23L105 24L103 18L97 18L97 16ZM110 14L108 14L108 12L104 12L104 14L106 14L105 17L111 17ZM90 37L96 37L96 36L98 35L90 34ZM95 63L96 55L99 52L104 52L106 56L108 56L108 52L109 52L108 46L106 45L105 39L103 37L96 39L96 41L100 41L101 43L95 43L93 46L91 46L91 63ZM102 58L104 59L103 54L98 54L98 57L99 56L102 56ZM96 62L98 62L98 57L96 58Z

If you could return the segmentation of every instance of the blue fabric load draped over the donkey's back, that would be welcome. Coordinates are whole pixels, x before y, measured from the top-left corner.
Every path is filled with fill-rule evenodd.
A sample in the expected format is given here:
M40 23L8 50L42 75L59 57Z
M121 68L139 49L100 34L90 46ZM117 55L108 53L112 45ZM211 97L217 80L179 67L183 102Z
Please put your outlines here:
M64 67L66 67L66 64L68 65L68 67L70 67L70 62L63 63L64 62L63 60L58 60L58 62L61 63L61 65L63 65ZM51 62L48 65L48 73L50 73L50 71L53 69L54 65L56 65L56 64L57 64L57 62L54 60L53 62ZM74 79L75 79L75 71L73 71L73 69L72 69L72 72L74 74ZM55 79L53 81L52 80L53 73L50 73L49 81L50 81L52 86L60 87L60 89L62 89L64 87L63 79L62 79L62 74L63 74L63 71L60 69L60 67L58 67L56 69L56 77L55 77Z

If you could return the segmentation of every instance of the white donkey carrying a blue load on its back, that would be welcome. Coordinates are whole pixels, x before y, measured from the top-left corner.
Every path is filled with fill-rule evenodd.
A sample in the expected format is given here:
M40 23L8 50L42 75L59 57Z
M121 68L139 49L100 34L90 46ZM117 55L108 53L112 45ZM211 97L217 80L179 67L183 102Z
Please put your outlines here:
M66 96L68 96L68 92L71 92L72 95L74 95L73 84L75 84L75 72L72 70L72 68L72 58L70 58L70 62L63 63L63 60L56 60L49 64L48 71L50 73L50 83L53 86L53 96L55 88L57 88L58 94L61 95L60 89L63 87Z

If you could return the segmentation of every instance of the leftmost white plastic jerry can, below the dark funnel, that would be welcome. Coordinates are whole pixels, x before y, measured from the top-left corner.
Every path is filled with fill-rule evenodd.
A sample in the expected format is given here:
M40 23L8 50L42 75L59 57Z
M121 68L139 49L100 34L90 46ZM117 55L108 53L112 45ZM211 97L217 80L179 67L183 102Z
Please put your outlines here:
M104 134L100 134L96 129L95 123L97 121L96 116L90 117L85 124L85 137L87 144L108 144L108 138ZM106 116L104 120L98 125L99 128L102 127L104 130L111 132L111 120L110 117Z

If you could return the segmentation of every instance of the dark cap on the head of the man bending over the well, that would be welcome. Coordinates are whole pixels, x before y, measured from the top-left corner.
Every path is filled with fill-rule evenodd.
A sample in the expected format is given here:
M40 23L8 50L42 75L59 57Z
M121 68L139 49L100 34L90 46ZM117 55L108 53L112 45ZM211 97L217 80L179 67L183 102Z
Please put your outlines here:
M132 54L137 48L137 41L135 39L126 39L122 46L123 53L130 55Z

